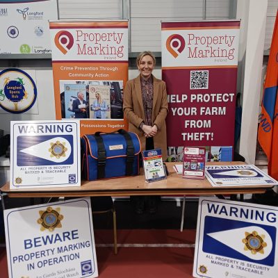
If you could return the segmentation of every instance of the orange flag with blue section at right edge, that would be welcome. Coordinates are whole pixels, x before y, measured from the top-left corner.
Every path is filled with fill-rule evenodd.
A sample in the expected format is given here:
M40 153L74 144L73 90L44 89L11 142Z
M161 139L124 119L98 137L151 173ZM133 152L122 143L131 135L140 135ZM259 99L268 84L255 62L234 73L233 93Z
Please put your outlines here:
M258 139L268 156L268 174L278 180L278 10L261 104Z

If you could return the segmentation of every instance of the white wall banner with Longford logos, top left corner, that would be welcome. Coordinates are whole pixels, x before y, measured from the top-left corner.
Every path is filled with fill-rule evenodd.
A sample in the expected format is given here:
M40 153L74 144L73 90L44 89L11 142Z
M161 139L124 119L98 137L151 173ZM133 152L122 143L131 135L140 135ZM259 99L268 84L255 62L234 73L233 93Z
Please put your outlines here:
M56 19L56 0L0 1L0 54L51 54L48 21Z

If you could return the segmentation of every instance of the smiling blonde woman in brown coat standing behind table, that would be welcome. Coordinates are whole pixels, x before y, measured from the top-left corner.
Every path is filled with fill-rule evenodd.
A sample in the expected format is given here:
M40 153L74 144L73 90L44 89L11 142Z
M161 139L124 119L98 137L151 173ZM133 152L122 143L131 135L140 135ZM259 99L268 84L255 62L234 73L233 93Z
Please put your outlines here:
M136 60L140 74L126 82L124 89L124 117L129 120L129 131L136 133L142 150L161 149L163 161L167 158L165 118L168 112L167 92L164 81L152 75L156 58L150 51L143 51ZM136 213L149 208L156 213L156 196L131 196Z

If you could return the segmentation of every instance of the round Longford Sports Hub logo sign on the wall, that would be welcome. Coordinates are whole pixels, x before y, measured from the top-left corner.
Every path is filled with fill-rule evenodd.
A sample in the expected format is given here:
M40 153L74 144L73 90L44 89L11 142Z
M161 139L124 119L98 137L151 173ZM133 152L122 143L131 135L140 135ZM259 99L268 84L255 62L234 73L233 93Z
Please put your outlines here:
M0 113L39 113L35 70L8 68L0 72Z

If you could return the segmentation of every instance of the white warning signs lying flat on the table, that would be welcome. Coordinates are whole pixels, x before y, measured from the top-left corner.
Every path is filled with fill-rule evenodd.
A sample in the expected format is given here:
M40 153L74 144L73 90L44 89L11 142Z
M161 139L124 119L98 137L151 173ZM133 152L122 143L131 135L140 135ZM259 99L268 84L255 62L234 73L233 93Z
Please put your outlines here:
M206 178L212 186L262 186L278 182L255 165L206 166Z

